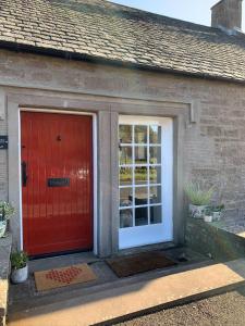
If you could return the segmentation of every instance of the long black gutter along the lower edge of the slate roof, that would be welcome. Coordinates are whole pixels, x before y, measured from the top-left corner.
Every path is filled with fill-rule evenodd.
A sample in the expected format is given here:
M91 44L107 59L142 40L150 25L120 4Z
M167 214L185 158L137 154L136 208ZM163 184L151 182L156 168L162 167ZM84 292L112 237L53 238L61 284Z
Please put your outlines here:
M208 80L220 80L220 82L229 82L229 83L245 85L245 79L236 79L232 77L223 77L223 76L215 76L215 75L212 76L210 74L205 74L205 73L189 73L189 72L174 70L174 68L163 68L156 65L145 65L140 63L123 62L120 60L112 60L112 59L106 59L101 57L89 55L89 54L82 54L77 52L63 51L53 48L42 48L42 47L36 47L32 45L23 45L23 43L17 43L12 41L0 40L0 49L11 50L15 52L41 54L41 55L61 58L66 60L85 61L95 64L112 65L112 66L126 67L132 70L166 73L166 74L173 74L173 75L185 76L185 77L187 76L187 77L201 78Z

